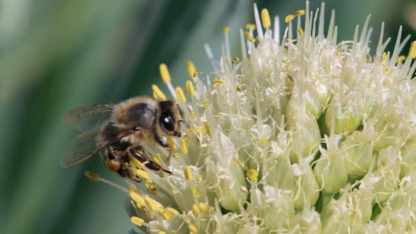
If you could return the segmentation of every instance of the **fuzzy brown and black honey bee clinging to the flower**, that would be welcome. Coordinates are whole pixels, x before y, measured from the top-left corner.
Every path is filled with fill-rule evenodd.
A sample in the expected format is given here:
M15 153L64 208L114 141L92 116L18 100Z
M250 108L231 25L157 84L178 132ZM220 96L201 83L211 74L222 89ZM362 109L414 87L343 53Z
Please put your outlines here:
M172 174L155 163L145 153L145 147L169 148L165 137L181 137L181 109L175 101L155 101L146 96L134 97L118 104L98 104L74 109L64 116L67 123L106 119L101 130L89 130L78 135L63 155L63 167L81 164L95 154L102 154L111 171L137 182L141 179L129 168L133 157L153 171Z

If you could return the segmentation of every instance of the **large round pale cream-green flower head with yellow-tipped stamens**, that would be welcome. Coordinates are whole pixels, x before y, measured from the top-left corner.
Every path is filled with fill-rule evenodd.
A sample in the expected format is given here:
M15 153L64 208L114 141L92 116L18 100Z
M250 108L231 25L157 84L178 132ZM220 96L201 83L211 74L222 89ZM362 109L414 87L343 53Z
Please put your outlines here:
M400 28L384 52L381 25L371 56L369 18L338 42L334 12L325 34L324 4L311 13L308 2L281 37L279 17L272 24L254 8L239 57L225 27L213 73L188 61L188 96L161 65L189 126L168 139L169 162L169 152L147 149L172 176L130 165L145 180L131 188L132 223L150 233L415 231L416 43L403 59Z

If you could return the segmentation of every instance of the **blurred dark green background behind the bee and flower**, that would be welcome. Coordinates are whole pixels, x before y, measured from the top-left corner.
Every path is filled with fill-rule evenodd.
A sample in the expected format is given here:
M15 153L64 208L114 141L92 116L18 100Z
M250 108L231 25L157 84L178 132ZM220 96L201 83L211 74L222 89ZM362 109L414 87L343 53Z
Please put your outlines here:
M257 3L281 18L305 7L305 1ZM310 4L315 11L321 1ZM404 36L415 34L415 1L326 1L327 14L331 8L338 41L352 39L355 25L368 13L372 51L382 21L385 38L393 38L389 49L399 25ZM249 0L0 0L0 233L132 229L123 209L126 195L83 176L89 170L123 183L99 157L75 168L59 167L63 149L77 134L63 123L63 114L151 94L150 86L160 83L162 62L175 86L188 79L189 59L207 74L212 69L204 43L218 58L221 28L231 26L232 54L240 56L238 28L249 22L254 22Z

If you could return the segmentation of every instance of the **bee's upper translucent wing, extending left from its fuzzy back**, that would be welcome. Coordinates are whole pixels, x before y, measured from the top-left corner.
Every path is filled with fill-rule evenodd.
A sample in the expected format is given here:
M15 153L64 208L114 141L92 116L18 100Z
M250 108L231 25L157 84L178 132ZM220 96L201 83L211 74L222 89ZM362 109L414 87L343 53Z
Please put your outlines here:
M63 121L75 124L78 130L97 130L110 116L116 104L97 104L73 109L63 116Z

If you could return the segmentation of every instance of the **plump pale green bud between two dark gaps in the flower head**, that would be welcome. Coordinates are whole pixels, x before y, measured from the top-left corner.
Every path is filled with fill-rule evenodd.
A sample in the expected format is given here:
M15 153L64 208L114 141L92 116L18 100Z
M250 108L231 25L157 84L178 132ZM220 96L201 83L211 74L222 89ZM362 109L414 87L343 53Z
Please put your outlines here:
M345 152L338 148L341 136L325 136L328 149L320 148L321 158L317 161L314 173L319 187L326 193L338 192L347 183L348 173L345 166Z

